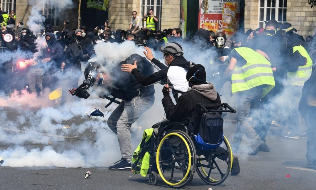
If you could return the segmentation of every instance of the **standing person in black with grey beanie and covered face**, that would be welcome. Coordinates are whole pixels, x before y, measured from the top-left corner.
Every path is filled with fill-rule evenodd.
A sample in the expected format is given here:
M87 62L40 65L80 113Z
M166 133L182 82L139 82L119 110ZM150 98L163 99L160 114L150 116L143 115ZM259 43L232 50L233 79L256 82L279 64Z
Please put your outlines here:
M81 62L83 57L82 52L82 30L76 29L75 32L70 31L65 35L65 51L64 66L65 71L71 72L70 87L77 87L78 79L81 76ZM63 64L62 64L63 66Z

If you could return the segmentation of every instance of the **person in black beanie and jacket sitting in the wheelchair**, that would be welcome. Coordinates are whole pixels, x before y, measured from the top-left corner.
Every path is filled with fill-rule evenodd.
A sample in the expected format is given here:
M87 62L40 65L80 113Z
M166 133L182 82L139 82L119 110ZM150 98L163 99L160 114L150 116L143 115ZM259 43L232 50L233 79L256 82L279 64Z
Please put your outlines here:
M162 89L163 98L161 101L168 121L181 122L188 125L198 103L211 110L221 109L221 98L216 92L214 85L206 81L206 72L203 65L192 66L186 74L186 80L189 82L189 91L179 97L176 105L169 95L170 88L168 84ZM159 129L161 129L161 126ZM221 151L221 149L223 148L216 148L217 151ZM237 175L239 172L238 158L234 156L231 174Z

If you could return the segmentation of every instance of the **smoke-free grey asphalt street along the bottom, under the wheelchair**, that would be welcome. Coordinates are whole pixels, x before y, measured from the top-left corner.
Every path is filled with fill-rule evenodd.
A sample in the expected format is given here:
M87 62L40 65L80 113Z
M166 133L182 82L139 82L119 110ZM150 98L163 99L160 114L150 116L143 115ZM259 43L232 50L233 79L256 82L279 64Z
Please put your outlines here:
M271 128L272 131L273 128ZM225 135L231 139L234 122L225 122ZM69 135L71 136L71 134ZM95 133L85 131L80 137L66 139L68 148L90 139L94 143ZM228 176L219 186L206 185L197 174L193 181L183 189L314 189L316 170L308 167L305 159L306 138L286 139L269 133L267 145L270 152L259 152L248 156L234 153L239 157L240 174ZM54 142L52 146L59 146ZM242 141L241 148L246 147ZM1 144L0 150L14 145ZM42 144L25 143L27 149L43 148ZM111 155L108 155L111 157ZM159 179L156 186L149 185L148 177L132 174L131 171L109 171L107 167L64 168L64 167L7 167L0 166L0 189L169 189ZM106 158L104 158L106 159ZM59 162L56 160L56 162ZM91 177L85 179L86 171Z

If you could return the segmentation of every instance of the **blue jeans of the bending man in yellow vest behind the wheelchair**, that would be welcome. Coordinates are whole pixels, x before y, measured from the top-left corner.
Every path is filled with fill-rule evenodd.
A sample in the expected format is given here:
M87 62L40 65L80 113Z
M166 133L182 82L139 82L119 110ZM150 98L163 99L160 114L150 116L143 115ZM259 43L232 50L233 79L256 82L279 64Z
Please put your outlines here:
M250 107L257 104L262 95L262 87L257 86L246 91L240 91L238 95L237 105L237 126L236 132L233 137L233 146L236 148L240 145L243 134L245 133L247 138L256 148L260 142L259 136L248 121Z

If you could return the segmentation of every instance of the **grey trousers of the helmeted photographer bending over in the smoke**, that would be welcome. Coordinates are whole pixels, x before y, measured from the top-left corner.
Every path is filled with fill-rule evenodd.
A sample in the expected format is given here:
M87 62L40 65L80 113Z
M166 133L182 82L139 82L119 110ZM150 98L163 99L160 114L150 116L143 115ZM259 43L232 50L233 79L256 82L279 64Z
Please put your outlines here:
M154 104L154 101L154 95L133 98L131 101L123 100L108 118L107 125L118 135L122 160L130 162L132 158L131 125Z

